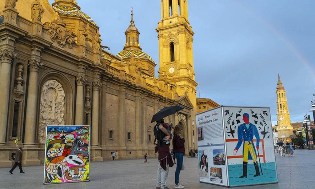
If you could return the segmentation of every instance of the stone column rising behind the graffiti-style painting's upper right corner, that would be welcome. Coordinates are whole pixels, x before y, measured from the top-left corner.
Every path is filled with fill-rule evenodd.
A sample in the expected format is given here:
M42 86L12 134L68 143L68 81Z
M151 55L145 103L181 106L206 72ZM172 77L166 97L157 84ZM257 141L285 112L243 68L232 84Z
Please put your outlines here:
M84 82L86 81L84 71L85 68L83 66L79 66L79 75L76 78L77 81L77 98L76 98L76 125L84 124Z

